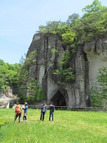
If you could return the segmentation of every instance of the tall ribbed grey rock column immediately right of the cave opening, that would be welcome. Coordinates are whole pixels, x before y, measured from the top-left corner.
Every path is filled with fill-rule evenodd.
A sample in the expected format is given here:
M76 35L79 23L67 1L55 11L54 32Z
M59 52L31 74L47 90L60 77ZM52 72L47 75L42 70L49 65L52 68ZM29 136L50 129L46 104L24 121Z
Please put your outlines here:
M88 61L81 47L76 51L74 57L75 82L67 85L69 92L69 105L73 107L86 107L86 97L89 96L88 90Z

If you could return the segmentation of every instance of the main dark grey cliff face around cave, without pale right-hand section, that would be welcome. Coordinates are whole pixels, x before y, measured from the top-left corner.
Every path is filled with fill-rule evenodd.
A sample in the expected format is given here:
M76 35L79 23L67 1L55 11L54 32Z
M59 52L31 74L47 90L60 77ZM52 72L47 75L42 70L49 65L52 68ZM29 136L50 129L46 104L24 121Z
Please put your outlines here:
M59 84L58 76L53 74L61 68L64 55L62 42L56 35L36 34L33 37L28 54L37 52L36 64L29 68L29 76L35 78L47 95L47 103L53 101L56 106L86 107L89 97L88 60L81 47L77 48L70 61L75 72L75 81Z

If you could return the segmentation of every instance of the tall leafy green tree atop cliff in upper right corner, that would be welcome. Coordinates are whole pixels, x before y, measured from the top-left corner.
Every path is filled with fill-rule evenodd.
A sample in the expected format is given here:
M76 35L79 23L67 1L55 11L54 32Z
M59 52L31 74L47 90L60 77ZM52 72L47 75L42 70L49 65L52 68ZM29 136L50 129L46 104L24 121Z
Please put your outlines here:
M81 19L81 26L84 28L86 41L93 38L95 40L101 38L107 32L107 7L102 6L99 0L94 0L91 5L84 9L84 16Z

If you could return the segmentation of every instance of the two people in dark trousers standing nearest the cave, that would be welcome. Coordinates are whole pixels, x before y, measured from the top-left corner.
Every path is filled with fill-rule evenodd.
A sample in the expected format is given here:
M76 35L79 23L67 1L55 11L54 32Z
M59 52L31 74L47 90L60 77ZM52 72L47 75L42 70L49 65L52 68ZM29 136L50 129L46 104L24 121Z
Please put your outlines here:
M51 104L49 106L49 110L50 110L50 112L49 112L49 121L51 120L51 116L52 116L52 121L53 121L55 106L53 105L52 102L51 102ZM43 102L43 104L41 105L40 120L44 121L46 111L47 111L47 105L46 105L45 102Z

